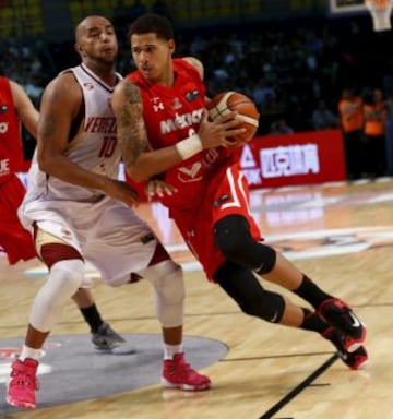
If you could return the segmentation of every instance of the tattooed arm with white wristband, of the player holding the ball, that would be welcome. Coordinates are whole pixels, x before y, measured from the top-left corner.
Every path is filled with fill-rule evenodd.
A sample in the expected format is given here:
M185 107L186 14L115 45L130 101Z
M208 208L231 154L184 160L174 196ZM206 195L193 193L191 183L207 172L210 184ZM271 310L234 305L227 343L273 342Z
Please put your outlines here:
M153 151L148 145L140 88L131 81L122 80L115 88L111 107L117 120L117 139L126 169L138 182L166 171L204 148L228 146L230 141L227 137L243 133L243 129L237 128L236 112L215 122L209 121L205 113L198 135Z

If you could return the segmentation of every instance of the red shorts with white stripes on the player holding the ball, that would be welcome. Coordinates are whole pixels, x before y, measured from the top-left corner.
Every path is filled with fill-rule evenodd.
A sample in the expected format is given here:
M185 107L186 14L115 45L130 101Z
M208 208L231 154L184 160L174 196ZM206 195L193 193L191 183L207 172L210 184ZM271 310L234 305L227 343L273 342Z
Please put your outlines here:
M212 178L202 202L191 211L174 212L170 215L194 256L202 264L209 278L225 262L215 244L213 227L228 215L241 215L250 226L251 236L260 241L260 230L249 207L247 180L238 166L229 166L226 171Z

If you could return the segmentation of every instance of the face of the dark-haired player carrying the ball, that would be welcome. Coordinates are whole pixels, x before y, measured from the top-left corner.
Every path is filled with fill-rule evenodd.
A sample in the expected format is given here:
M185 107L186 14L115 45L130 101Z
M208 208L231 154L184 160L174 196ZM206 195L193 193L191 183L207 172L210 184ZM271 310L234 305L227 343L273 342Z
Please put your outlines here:
M133 34L131 52L134 63L142 75L153 83L165 82L170 71L174 39L160 39L154 33Z

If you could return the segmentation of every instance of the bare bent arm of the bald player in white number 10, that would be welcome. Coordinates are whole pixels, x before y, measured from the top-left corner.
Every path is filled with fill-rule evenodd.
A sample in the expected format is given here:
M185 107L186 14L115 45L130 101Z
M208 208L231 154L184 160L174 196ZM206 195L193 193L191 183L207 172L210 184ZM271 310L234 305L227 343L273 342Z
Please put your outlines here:
M71 123L81 103L82 89L72 73L59 75L46 87L38 121L39 168L66 182L102 190L128 205L134 205L136 194L129 184L85 170L64 155L69 145Z

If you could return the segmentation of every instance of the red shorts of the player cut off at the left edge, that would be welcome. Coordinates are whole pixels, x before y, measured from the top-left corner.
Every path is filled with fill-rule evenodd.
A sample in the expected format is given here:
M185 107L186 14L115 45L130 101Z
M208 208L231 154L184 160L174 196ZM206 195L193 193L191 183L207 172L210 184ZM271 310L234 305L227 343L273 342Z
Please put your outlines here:
M0 247L4 249L11 265L20 260L36 258L32 235L17 218L17 207L24 194L25 188L16 175L5 183L0 183Z

